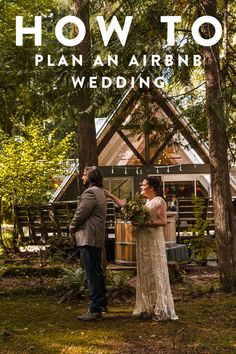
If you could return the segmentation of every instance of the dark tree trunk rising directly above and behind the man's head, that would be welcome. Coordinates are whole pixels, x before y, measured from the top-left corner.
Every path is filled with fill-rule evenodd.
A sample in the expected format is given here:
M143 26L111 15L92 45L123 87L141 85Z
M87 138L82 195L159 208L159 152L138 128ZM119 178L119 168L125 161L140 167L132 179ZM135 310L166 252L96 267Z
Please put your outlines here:
M91 37L89 24L89 1L75 0L75 14L84 22L86 36L76 48L76 52L83 56L83 76L91 75ZM84 87L78 92L78 146L80 173L85 166L98 165L97 142L94 109L92 107L91 89Z

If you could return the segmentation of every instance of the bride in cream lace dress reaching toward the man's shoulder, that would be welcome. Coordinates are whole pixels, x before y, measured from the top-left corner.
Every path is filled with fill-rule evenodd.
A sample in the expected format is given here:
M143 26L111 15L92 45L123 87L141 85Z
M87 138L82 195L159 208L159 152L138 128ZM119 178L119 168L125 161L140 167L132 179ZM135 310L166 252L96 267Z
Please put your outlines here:
M120 206L124 201L106 191ZM154 321L177 320L170 288L163 226L167 223L166 203L160 180L147 177L141 184L141 195L147 198L148 220L135 225L137 286L133 314Z

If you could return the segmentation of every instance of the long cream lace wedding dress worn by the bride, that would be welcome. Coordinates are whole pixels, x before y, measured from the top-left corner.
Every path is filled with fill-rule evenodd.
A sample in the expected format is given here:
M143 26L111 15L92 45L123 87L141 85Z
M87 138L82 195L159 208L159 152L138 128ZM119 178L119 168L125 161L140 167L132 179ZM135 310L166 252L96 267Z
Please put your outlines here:
M147 201L150 220L157 220L155 209L166 203L155 197ZM170 289L162 226L136 227L137 288L133 314L152 316L154 320L177 320Z

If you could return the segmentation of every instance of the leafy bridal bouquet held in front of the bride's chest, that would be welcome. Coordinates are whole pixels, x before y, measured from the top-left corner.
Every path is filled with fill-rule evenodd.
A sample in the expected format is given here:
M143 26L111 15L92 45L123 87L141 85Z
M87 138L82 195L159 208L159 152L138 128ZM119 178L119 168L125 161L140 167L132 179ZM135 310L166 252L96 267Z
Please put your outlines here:
M148 211L140 199L130 201L121 208L121 218L138 224L145 224L148 218Z

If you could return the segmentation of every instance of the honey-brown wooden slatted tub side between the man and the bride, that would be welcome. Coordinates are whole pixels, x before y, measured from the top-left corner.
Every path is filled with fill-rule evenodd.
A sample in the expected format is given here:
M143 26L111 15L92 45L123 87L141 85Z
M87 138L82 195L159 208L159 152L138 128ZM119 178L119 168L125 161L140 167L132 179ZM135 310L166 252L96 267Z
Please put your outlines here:
M115 262L136 265L136 241L132 224L116 219L115 235Z

